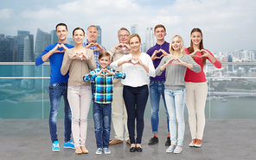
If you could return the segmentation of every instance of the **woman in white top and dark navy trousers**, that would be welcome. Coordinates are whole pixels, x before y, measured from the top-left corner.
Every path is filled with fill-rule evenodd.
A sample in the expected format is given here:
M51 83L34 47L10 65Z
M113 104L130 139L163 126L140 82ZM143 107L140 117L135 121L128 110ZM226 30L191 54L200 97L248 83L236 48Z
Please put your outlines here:
M149 96L148 76L155 77L155 67L150 56L140 52L141 40L138 34L132 34L128 43L132 52L113 62L111 67L122 65L122 72L126 74L121 83L124 84L123 96L128 114L127 126L131 140L130 151L134 152L143 151L141 141L144 131L144 109ZM135 119L137 119L136 139Z

